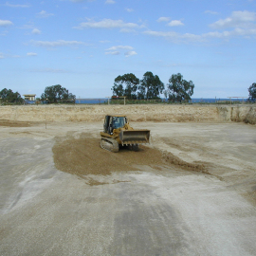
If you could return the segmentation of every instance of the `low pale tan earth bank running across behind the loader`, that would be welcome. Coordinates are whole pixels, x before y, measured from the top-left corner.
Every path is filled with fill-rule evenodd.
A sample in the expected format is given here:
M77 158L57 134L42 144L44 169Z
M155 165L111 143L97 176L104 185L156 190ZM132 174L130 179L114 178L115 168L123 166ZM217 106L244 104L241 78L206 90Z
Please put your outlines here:
M256 105L21 105L0 106L0 119L19 121L101 121L106 114L130 120L244 121L256 123Z

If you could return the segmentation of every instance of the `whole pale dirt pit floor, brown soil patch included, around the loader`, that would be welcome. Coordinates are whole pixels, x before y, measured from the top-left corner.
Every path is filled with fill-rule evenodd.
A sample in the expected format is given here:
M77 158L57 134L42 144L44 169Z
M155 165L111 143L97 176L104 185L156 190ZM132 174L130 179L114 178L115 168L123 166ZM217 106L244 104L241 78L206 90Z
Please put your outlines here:
M255 255L256 126L0 120L0 255Z

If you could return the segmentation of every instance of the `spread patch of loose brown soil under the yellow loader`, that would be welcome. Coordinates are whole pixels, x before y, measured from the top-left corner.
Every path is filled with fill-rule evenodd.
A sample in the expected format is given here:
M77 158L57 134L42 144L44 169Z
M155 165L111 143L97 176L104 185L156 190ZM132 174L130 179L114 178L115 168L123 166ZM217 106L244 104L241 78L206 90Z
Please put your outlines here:
M207 174L203 164L187 163L169 152L153 147L140 145L138 152L129 150L127 147L120 147L119 153L113 154L106 150L99 150L100 140L92 137L91 134L60 140L52 149L55 166L69 174L110 175L113 172L143 170L145 165L157 170L171 165L182 170Z

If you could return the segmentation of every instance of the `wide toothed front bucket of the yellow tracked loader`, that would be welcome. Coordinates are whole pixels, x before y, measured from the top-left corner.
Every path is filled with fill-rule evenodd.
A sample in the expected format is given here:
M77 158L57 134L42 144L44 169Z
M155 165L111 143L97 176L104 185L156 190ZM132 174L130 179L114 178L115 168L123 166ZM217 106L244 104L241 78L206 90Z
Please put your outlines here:
M149 143L150 130L122 130L119 138L122 144Z

